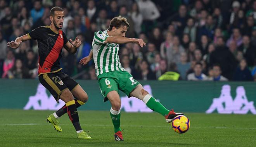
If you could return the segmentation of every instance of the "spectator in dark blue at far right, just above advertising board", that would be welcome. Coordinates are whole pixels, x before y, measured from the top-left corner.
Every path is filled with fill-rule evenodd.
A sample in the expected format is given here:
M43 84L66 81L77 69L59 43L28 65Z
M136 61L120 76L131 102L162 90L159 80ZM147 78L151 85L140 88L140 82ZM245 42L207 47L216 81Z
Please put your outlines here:
M250 70L247 68L246 59L242 59L239 63L239 67L234 73L235 81L253 81L253 76Z

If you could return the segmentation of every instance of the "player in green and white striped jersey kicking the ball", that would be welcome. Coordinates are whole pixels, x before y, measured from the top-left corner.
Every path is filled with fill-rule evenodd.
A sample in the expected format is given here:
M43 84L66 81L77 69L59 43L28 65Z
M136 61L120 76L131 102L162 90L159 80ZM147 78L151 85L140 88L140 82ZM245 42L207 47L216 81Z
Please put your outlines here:
M96 75L99 80L100 90L104 101L111 103L110 116L114 125L114 138L123 141L120 128L121 100L118 90L123 91L128 97L134 96L142 101L153 111L160 113L170 123L177 115L173 110L166 109L159 101L153 98L143 86L122 68L118 51L119 44L137 43L145 46L142 39L125 37L130 25L124 17L114 17L105 31L95 32L92 42L92 51L87 57L81 59L80 64L87 64L92 58L95 63Z

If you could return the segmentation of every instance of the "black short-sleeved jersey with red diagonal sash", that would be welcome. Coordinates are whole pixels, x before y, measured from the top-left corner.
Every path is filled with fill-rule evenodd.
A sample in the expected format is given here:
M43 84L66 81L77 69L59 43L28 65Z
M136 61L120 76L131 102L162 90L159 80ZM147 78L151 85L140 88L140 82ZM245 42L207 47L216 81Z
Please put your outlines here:
M38 27L28 33L29 36L38 42L38 75L60 71L61 52L67 37L62 30L53 32L50 26Z

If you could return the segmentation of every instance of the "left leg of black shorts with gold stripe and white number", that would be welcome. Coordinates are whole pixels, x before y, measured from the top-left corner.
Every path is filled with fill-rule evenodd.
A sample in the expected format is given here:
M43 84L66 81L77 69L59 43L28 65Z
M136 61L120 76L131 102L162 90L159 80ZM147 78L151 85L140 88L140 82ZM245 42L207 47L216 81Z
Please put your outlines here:
M67 86L63 83L58 74L47 73L41 74L39 77L40 83L54 96L55 100L59 102L61 93L68 90Z

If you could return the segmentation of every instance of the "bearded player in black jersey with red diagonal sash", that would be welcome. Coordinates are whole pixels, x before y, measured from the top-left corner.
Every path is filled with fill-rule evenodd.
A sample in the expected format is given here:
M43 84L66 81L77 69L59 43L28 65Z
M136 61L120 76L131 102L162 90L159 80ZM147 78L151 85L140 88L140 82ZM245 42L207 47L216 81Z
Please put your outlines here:
M76 109L85 104L88 100L88 95L76 81L63 73L60 67L62 48L64 47L68 52L74 54L81 45L81 41L78 37L74 41L72 39L68 41L65 33L61 30L64 20L62 8L53 7L50 10L50 20L51 24L49 26L38 27L26 35L17 37L15 41L8 42L7 46L17 49L23 41L37 40L39 49L38 76L40 83L50 91L57 102L61 99L66 103L57 112L49 115L47 121L52 123L57 131L62 132L58 118L68 113L78 138L91 139L82 130Z

